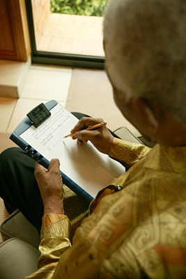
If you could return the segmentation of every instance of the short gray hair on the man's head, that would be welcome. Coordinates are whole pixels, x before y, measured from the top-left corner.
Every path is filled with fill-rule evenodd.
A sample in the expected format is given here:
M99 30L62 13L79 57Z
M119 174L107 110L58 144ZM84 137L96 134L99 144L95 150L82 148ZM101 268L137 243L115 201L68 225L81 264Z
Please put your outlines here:
M185 1L111 0L103 28L107 70L123 96L153 100L186 122Z

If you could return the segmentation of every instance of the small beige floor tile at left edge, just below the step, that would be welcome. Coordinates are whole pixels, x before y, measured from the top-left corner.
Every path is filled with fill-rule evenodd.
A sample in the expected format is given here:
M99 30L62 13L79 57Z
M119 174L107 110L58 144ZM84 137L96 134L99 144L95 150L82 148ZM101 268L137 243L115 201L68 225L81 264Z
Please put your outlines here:
M0 98L0 132L6 133L17 99Z

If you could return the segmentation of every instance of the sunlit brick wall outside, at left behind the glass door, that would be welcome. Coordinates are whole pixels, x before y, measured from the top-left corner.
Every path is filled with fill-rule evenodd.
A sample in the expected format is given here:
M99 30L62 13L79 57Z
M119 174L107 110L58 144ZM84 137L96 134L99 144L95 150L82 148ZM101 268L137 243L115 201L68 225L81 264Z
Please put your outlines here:
M50 0L31 0L36 44L50 15Z

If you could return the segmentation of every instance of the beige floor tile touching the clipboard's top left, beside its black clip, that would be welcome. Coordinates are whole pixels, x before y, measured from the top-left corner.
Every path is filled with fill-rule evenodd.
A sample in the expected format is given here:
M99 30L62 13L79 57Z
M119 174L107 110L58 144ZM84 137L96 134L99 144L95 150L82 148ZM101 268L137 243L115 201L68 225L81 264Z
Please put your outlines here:
M11 117L10 124L8 125L7 133L13 133L13 130L18 124L26 117L26 114L33 110L34 107L40 105L40 103L47 103L48 100L34 100L23 99L17 100L13 116Z

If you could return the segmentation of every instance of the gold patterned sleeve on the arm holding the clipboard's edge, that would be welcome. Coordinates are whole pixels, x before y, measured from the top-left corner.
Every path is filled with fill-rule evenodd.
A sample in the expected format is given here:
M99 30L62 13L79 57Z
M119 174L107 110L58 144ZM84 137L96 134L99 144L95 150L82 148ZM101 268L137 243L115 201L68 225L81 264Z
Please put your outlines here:
M42 217L40 237L41 255L38 259L38 271L26 279L52 278L61 255L71 247L70 220L62 214L45 214Z

